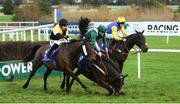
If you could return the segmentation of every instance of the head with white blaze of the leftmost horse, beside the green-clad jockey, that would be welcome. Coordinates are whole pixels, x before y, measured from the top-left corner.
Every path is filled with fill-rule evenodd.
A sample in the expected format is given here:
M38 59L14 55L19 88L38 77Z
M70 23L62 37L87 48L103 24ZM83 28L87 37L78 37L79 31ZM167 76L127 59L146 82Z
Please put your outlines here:
M90 62L93 62L94 60L96 60L93 48L89 41L83 40L82 48L83 48L84 54L87 55L87 58Z

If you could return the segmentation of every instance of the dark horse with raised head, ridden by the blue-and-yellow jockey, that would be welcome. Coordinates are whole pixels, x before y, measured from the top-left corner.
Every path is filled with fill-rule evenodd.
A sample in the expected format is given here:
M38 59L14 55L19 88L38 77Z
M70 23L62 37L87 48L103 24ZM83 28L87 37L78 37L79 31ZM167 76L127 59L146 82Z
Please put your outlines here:
M144 31L136 31L136 33L127 36L125 42L116 41L115 44L110 44L109 50L111 51L109 51L109 55L119 67L119 73L122 73L124 62L128 57L129 51L134 45L137 45L142 52L148 51L148 46L143 33Z

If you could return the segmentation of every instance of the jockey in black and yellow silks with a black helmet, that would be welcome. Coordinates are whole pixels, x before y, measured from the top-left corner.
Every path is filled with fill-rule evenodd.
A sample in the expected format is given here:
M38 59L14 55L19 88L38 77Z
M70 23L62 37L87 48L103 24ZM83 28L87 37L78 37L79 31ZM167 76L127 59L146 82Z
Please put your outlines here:
M69 40L69 37L67 36L67 24L68 21L64 18L62 18L59 21L59 24L55 24L53 27L53 30L50 35L50 46L51 48L47 52L47 57L49 58L50 55L54 50L56 50L59 45L62 43L63 40Z

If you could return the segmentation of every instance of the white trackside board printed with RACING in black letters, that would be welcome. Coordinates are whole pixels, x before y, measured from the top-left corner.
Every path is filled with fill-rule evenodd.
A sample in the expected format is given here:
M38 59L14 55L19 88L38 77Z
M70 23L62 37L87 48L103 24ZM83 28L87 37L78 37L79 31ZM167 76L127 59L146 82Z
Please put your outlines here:
M180 22L144 22L146 35L180 36Z

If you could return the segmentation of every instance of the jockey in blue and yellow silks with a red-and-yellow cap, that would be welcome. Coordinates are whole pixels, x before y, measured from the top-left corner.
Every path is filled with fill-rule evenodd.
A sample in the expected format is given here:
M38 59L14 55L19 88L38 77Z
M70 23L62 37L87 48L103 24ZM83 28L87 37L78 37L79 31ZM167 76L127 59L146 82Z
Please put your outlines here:
M118 32L121 31L123 37L127 36L126 29L127 24L126 24L126 19L124 17L118 17L116 21L113 21L109 25L107 25L107 37L108 38L113 38L116 41L123 40L126 41L125 38L121 38L118 36ZM110 37L109 37L110 35Z

